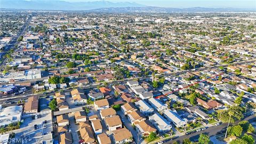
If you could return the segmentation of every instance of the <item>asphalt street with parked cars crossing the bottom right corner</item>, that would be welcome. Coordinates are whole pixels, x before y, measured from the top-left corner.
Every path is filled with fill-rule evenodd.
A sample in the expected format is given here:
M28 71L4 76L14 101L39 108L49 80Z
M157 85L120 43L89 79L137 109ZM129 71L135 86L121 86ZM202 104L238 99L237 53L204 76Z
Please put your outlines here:
M255 121L255 119L256 119L256 117L254 115L251 115L249 117L241 119L241 121L249 121L249 123L252 123L253 121ZM240 122L240 121L237 121L235 124L238 124L238 122ZM230 126L231 125L232 124L230 124ZM181 136L181 137L179 137L177 139L174 139L174 140L166 142L166 144L169 144L169 143L171 144L174 141L179 141L180 143L182 143L183 139L186 139L186 138L189 138L191 141L197 141L198 138L199 138L199 135L201 133L207 134L207 135L209 135L209 137L212 137L214 135L217 135L217 132L226 129L227 126L228 126L227 123L222 123L222 124L220 124L218 126L209 127L208 129L206 129L204 131L200 131L200 132L196 132L196 133L191 133L189 135L183 135L183 136ZM225 134L225 133L223 133L223 134Z

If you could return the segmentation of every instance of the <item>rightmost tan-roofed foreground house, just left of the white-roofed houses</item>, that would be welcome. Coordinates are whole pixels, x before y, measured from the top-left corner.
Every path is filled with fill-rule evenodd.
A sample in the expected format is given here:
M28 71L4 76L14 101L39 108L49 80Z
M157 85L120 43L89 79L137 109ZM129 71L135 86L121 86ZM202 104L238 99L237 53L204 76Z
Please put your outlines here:
M146 119L135 125L137 132L143 137L147 137L151 132L156 132L155 127Z

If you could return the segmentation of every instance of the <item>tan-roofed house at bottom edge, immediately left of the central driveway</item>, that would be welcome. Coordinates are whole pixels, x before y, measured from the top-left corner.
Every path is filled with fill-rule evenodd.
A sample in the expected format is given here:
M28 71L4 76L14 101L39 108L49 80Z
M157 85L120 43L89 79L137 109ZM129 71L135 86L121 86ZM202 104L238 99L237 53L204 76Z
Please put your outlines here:
M115 144L132 142L132 133L126 128L113 131L113 142Z

